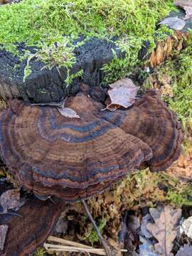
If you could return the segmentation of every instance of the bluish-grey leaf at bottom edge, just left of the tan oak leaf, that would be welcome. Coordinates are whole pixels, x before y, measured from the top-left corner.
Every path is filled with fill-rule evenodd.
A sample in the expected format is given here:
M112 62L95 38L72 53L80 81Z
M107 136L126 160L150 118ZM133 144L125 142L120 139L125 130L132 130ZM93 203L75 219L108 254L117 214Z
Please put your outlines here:
M142 242L142 245L139 245L139 256L160 256L159 253L154 250L154 246L151 244L150 240L140 236L140 242Z

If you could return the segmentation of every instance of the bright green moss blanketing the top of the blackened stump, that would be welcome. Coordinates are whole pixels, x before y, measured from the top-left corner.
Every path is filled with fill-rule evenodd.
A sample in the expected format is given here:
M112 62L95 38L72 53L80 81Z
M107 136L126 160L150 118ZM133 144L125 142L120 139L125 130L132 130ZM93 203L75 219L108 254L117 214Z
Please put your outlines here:
M156 23L171 10L172 0L23 0L1 6L0 43L16 54L14 43L26 42L39 49L38 58L50 67L70 68L75 62L71 43L78 35L108 40L119 36L122 39L117 45L125 50L125 59L114 58L104 67L106 80L112 81L132 72L142 42L148 40L154 45ZM65 46L62 54L55 42Z

